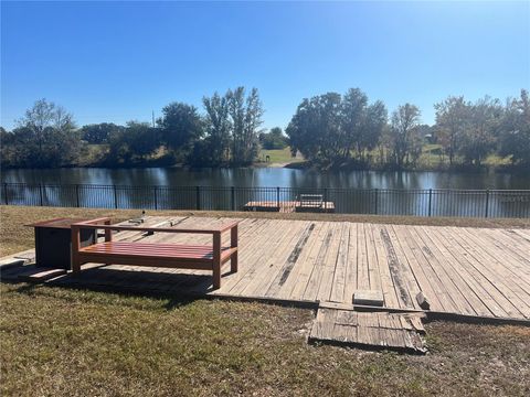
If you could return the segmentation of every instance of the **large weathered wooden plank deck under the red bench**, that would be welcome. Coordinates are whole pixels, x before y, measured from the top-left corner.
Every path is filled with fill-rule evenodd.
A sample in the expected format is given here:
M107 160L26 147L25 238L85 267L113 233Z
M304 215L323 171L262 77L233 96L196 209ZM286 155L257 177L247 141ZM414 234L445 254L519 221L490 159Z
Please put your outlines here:
M149 217L142 226L210 227L229 219ZM209 244L208 236L120 232L115 240ZM26 267L24 267L26 268ZM351 304L356 290L381 291L384 311L512 319L530 324L530 229L402 226L347 222L241 219L240 270L223 271L212 290L210 272L85 265L62 286L280 300L318 307ZM10 276L11 275L11 276ZM15 270L2 271L2 278Z

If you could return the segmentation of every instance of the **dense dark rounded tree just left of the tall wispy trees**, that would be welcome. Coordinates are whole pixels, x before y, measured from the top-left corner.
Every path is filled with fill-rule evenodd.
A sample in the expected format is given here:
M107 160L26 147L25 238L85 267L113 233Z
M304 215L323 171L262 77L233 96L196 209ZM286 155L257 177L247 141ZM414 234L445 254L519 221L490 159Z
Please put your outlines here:
M194 106L171 103L162 109L158 120L162 129L163 141L173 151L189 153L193 142L204 135L203 121Z

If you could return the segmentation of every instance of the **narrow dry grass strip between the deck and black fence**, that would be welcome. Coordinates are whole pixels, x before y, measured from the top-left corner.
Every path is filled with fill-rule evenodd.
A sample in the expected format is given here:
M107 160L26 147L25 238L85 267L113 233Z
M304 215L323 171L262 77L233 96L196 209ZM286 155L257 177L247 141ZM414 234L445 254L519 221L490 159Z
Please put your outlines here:
M530 219L517 218L452 218L379 216L349 214L279 214L254 212L209 212L209 211L148 211L148 215L214 216L214 217L264 217L328 222L369 222L399 225L469 226L469 227L530 227ZM140 215L139 210L93 210L31 206L0 206L0 257L33 247L33 228L24 225L56 217L110 216L114 221L125 221Z

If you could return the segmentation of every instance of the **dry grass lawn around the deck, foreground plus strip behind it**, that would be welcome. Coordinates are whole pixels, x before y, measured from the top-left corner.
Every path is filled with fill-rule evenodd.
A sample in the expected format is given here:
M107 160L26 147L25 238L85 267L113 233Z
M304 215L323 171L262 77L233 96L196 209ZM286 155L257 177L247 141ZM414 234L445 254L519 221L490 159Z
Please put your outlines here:
M33 244L23 223L138 211L2 206L0 214L2 251L12 253ZM524 225L499 222L486 225ZM303 309L24 283L1 285L0 299L2 396L530 394L530 328L433 322L431 353L410 356L308 345L314 313Z

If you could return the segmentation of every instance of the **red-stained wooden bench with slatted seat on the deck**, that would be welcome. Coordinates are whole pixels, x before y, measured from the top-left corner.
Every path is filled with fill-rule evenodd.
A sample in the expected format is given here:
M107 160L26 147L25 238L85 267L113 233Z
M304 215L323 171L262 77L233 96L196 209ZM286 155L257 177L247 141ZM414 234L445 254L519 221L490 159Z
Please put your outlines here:
M87 262L211 270L213 289L219 289L221 268L225 262L230 260L231 271L237 271L237 224L234 222L210 229L184 229L110 225L108 217L75 223L72 225L72 270L77 273L81 265ZM105 242L82 248L82 229L105 230ZM113 230L210 234L212 245L113 242ZM229 230L230 247L223 247L221 235Z

